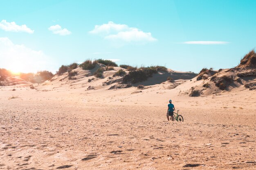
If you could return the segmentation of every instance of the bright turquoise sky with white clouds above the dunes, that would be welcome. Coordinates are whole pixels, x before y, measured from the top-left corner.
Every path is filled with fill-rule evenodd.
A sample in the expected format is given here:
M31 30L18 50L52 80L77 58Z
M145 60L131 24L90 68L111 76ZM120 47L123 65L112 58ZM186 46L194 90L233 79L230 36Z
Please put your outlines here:
M88 58L230 68L256 46L255 7L255 0L5 0L0 68L56 71Z

